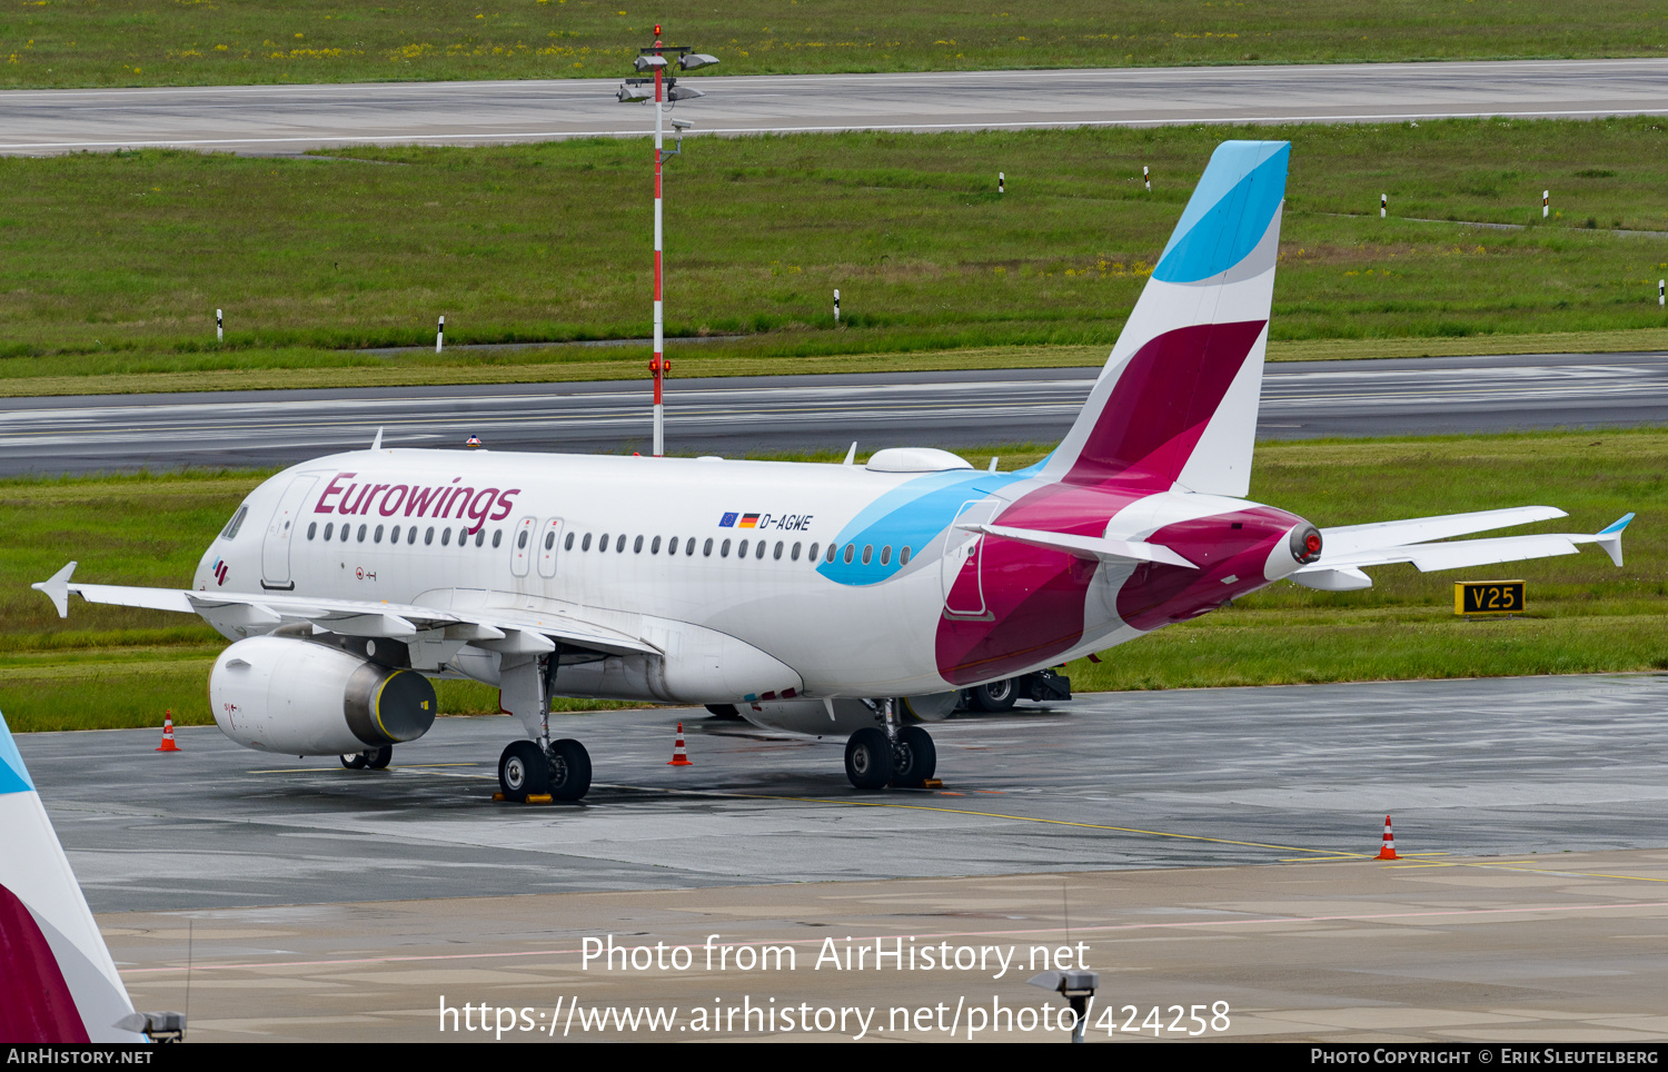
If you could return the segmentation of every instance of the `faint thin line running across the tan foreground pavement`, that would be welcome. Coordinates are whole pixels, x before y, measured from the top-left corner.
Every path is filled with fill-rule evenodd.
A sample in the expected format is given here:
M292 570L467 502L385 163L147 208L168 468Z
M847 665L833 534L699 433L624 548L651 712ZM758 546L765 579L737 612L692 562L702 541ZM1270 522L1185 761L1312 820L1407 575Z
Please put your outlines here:
M1486 867L1486 865L1483 865ZM1164 922L1143 922L1143 924L1101 924L1101 925L1078 925L1073 924L1071 930L1074 934L1111 934L1119 930L1184 930L1194 927L1234 927L1234 925L1268 925L1268 924L1351 924L1351 922L1373 922L1373 920L1399 920L1399 919L1438 919L1438 917L1461 917L1476 919L1480 915L1510 915L1525 912L1603 912L1608 909L1668 909L1668 900L1638 900L1638 902L1618 902L1608 905L1518 905L1510 909L1436 909L1426 912L1371 912L1356 915L1269 915L1269 917L1253 917L1253 919L1201 919L1201 920L1164 920ZM1032 934L1064 934L1066 924L1051 924L1048 927L1026 927L1014 930L944 930L939 934L914 934L909 935L916 940L947 940L947 939L999 939L999 937L1019 937ZM856 939L857 942L872 942L876 939L897 939L899 934L884 935L866 935ZM824 939L757 939L752 942L724 942L726 947L739 945L821 945ZM672 945L671 949L702 949L702 945ZM275 967L352 967L355 964L407 964L407 962L432 962L432 960L502 960L509 957L559 957L570 954L582 954L582 949L529 949L514 952L492 952L492 954L410 954L404 957L352 957L344 960L255 960L240 964L195 964L195 965L168 965L168 967L145 967L145 969L127 969L123 975L155 975L162 972L215 972L215 970L249 970L249 969L275 969Z

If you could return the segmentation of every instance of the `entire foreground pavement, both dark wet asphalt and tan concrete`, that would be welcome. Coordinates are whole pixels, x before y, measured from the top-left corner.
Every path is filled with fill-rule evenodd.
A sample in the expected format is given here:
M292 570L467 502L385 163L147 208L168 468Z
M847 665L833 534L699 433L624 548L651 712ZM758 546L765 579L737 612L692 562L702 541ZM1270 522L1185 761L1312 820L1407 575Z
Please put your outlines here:
M834 1009L822 1039L866 1009L867 1039L947 1040L972 1007L1058 1005L1024 980L1069 947L1113 1007L1091 1040L1648 1044L1665 704L1668 675L1084 695L939 724L944 787L882 794L846 785L836 740L607 712L554 720L599 784L547 807L490 802L509 719L444 719L380 774L207 727L175 755L155 730L17 744L135 1002L188 1010L192 1040L482 1040L482 1004L514 1010L505 1040L792 1040L757 1014L789 1005ZM677 719L694 767L666 765ZM1396 862L1373 859L1386 812ZM585 967L605 935L691 969ZM709 970L707 935L794 967ZM819 969L847 937L1019 960ZM474 1030L440 1030L464 1004ZM737 1014L696 1032L714 1007Z

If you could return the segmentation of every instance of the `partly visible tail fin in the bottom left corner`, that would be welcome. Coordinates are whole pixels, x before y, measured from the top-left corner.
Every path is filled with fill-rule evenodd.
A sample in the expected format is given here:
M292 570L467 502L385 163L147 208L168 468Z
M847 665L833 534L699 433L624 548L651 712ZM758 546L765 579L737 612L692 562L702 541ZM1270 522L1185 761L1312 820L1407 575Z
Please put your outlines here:
M98 924L0 715L0 1039L145 1042Z

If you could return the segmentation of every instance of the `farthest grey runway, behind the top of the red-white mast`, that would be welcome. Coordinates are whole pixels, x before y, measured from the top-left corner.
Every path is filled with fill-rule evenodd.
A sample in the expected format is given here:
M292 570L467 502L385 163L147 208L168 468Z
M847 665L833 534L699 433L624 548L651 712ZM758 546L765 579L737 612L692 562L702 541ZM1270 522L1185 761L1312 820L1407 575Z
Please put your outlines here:
M8 90L0 153L646 137L619 78ZM692 75L696 133L1024 130L1668 113L1668 60L1338 63L897 75Z

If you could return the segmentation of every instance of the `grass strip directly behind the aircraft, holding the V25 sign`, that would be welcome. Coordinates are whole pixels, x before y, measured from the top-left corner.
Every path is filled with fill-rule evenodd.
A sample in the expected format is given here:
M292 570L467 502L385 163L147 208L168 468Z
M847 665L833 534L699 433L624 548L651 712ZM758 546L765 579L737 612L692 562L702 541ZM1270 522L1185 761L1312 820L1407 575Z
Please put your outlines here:
M1041 457L1002 447L1002 468ZM981 465L987 455L966 453ZM1274 585L1198 622L1074 662L1078 690L1486 677L1668 669L1668 432L1264 443L1253 498L1319 525L1523 503L1563 507L1546 532L1596 532L1626 510L1626 565L1576 557L1418 574L1374 570L1366 592ZM224 642L180 615L72 602L60 622L28 582L67 559L105 584L187 584L197 557L262 473L0 482L0 710L15 730L210 720ZM1453 580L1528 580L1530 614L1453 617ZM442 710L495 709L485 687L442 682ZM570 704L595 707L594 704Z

